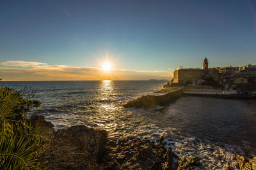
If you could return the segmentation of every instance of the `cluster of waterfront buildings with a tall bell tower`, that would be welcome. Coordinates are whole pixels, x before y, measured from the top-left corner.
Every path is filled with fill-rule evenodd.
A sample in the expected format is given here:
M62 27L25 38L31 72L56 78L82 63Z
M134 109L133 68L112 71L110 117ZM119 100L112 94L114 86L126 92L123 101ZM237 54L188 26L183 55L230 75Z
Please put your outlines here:
M244 67L211 67L205 57L203 69L200 68L178 68L173 72L173 85L232 85L248 84L256 87L256 66L248 64Z

